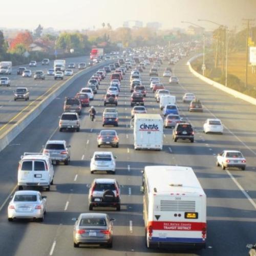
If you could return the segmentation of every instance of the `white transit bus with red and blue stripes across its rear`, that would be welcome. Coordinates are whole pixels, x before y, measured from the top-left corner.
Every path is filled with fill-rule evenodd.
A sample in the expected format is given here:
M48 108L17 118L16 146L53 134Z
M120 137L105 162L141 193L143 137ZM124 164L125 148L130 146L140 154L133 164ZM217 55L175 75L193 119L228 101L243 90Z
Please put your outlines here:
M145 166L141 192L148 248L205 248L206 195L191 167Z

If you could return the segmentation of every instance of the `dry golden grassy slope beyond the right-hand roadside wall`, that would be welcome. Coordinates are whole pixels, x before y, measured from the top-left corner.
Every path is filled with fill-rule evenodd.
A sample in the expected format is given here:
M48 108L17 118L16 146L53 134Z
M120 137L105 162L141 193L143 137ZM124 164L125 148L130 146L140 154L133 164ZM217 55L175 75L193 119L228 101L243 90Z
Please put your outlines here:
M221 62L217 68L214 68L214 60L214 53L211 52L205 55L205 76L216 82L225 84L225 65L223 70ZM202 74L202 62L203 59L200 57L191 63L193 69L200 74ZM234 52L229 54L227 86L231 89L256 98L256 74L252 74L251 67L248 66L248 84L247 88L245 88L245 65L245 52Z

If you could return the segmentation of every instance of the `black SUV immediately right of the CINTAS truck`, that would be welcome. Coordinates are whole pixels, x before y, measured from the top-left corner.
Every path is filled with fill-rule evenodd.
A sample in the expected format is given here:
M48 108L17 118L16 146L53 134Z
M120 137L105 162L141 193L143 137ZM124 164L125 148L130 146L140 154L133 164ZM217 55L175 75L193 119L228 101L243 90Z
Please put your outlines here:
M194 131L193 127L188 122L177 123L173 130L173 140L177 142L178 139L188 139L191 142L194 142Z

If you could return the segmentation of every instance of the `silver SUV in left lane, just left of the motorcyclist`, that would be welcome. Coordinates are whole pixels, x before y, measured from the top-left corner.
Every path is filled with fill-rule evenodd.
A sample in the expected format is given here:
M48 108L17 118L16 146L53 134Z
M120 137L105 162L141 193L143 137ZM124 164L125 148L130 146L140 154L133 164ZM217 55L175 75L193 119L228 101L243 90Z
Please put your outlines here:
M59 119L59 131L62 132L63 129L80 131L80 118L77 113L62 113Z

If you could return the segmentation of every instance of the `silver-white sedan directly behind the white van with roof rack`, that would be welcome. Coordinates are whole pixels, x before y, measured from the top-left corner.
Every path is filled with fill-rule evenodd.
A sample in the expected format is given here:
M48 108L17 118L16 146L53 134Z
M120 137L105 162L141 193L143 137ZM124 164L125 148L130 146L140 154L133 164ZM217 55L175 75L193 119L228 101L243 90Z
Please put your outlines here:
M44 221L46 197L39 191L16 191L8 206L8 221L15 219L38 219Z

